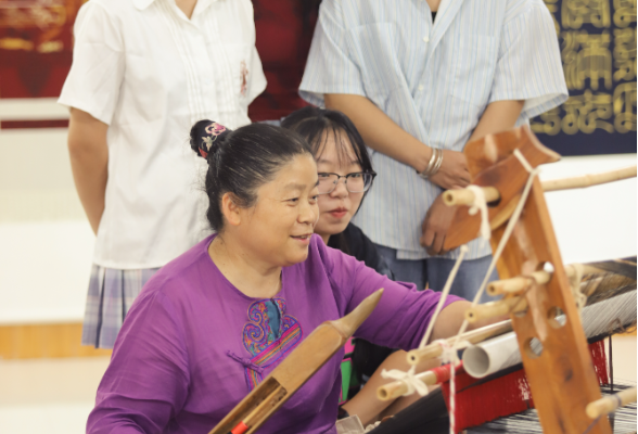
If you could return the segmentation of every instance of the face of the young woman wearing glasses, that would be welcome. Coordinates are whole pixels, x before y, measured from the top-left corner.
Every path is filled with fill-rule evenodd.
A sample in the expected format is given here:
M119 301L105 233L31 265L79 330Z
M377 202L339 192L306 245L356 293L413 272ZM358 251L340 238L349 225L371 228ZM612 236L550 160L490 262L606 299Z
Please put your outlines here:
M345 135L340 135L337 140L343 140L347 153L341 155L337 152L334 135L329 135L323 153L317 158L319 174L337 174L346 176L362 171L361 165L353 151L353 145ZM319 195L319 221L315 227L323 241L345 230L363 199L363 193L350 193L345 187L344 179L340 179L332 193Z

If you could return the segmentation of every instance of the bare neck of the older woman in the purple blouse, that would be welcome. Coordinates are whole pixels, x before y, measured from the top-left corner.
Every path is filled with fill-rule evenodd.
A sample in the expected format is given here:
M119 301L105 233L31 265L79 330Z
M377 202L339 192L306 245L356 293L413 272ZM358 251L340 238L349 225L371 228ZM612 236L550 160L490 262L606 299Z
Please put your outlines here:
M244 295L252 298L272 298L281 291L281 267L272 267L248 257L217 235L208 246L208 255L219 271Z

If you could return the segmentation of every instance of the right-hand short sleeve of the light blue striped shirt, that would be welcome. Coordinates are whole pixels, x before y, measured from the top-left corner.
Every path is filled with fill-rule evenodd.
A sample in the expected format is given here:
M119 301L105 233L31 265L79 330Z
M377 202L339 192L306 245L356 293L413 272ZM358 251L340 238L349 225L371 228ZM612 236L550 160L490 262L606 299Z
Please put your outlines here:
M524 100L532 118L569 98L556 27L540 0L528 0L503 27L489 102Z

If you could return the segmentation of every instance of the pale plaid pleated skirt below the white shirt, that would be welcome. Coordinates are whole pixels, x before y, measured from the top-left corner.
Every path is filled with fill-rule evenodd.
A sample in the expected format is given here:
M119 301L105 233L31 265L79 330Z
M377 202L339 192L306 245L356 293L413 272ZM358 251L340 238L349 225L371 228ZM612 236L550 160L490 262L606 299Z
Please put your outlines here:
M82 324L82 345L113 348L128 309L158 270L117 270L93 264Z

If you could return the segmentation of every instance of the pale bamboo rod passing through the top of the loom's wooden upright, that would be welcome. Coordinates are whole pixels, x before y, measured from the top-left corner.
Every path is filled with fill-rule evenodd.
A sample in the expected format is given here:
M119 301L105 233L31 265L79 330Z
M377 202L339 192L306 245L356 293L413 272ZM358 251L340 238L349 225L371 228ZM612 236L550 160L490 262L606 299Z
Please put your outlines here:
M621 181L623 179L636 178L637 166L626 167L617 170L605 171L601 174L585 175L582 177L554 179L543 182L543 189L549 191L562 191L584 189L587 187L602 186L610 182ZM485 199L487 203L496 202L500 199L500 193L494 187L484 187ZM443 200L448 206L465 205L472 206L474 204L475 194L468 189L448 190L443 194Z

